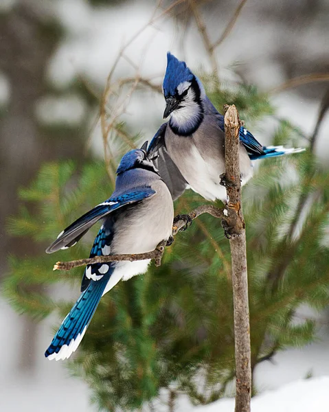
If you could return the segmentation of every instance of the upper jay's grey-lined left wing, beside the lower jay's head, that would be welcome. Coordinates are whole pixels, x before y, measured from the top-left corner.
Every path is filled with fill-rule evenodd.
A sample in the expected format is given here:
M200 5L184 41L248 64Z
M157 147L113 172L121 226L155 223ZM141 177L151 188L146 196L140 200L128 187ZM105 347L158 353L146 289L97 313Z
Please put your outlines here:
M147 155L159 170L161 179L166 183L172 199L176 200L185 191L188 183L168 154L165 141L166 130L167 123L163 123L151 140Z

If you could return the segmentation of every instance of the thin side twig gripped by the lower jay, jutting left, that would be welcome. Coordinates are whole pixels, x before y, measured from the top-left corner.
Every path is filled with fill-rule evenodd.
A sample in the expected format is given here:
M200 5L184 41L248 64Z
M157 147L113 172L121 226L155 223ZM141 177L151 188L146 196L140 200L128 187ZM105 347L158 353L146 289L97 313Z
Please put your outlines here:
M201 205L196 207L196 209L190 211L189 214L185 215L193 220L200 216L201 214L210 214L215 218L224 218L223 209L218 209L213 205ZM172 227L172 236L177 235L181 229L186 226L186 220L181 218L174 223ZM163 251L166 247L166 241L160 242L154 251L146 252L146 253L135 253L135 254L126 254L126 255L106 255L106 256L95 256L94 258L89 259L80 259L80 260L72 260L71 262L56 262L54 265L53 270L59 271L69 271L70 269L76 268L78 266L85 266L87 264L95 264L95 263L107 263L107 262L122 262L127 260L128 262L135 262L136 260L148 260L152 259L155 260L155 265L161 265L161 258L163 255Z

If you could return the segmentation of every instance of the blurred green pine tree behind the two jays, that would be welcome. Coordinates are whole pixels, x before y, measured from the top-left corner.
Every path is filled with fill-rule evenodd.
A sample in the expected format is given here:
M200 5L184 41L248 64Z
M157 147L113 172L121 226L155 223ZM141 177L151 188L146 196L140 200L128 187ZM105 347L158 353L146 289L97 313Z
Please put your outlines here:
M256 87L214 89L208 95L219 111L234 102L250 130L275 115L269 96ZM288 119L278 119L272 141L299 146L301 136ZM119 125L119 139L120 153L107 163L110 175L138 137ZM111 194L107 172L99 161L83 168L45 163L34 183L20 190L21 211L10 218L10 232L45 247ZM297 207L301 198L307 199L303 211ZM329 174L311 152L265 160L243 190L243 201L254 369L275 352L314 339L314 321L295 321L301 304L317 310L328 305ZM175 211L202 203L188 191ZM52 266L55 260L87 257L97 230L56 257L42 251L34 258L10 256L4 293L12 306L35 319L53 310L64 317L73 302L53 301L52 285L79 288L82 269L53 273ZM120 282L102 298L69 367L89 383L93 402L104 411L152 409L163 389L170 396L186 393L194 404L213 402L229 393L234 378L232 313L229 244L220 221L203 215L176 236L160 267Z

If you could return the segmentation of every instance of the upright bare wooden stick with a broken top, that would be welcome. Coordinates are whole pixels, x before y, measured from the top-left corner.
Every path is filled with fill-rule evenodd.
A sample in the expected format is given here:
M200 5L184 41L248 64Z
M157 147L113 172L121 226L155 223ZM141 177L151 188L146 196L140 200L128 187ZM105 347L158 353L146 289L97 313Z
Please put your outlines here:
M240 183L240 119L236 106L226 106L225 113L225 179L227 187L227 218L223 226L229 237L232 262L234 301L234 341L236 355L236 409L250 411L251 348L248 304L247 251L245 222L242 214ZM225 213L226 215L226 213Z

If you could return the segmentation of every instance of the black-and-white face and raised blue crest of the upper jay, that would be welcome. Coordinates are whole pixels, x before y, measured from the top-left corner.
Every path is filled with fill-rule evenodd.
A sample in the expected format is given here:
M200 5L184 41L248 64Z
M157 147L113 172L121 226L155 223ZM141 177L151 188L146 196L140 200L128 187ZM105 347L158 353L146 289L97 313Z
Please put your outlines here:
M205 91L200 80L185 62L181 62L170 52L167 58L166 75L163 79L163 95L166 99L163 118L171 115L170 126L178 129L195 128L203 119L202 99Z

